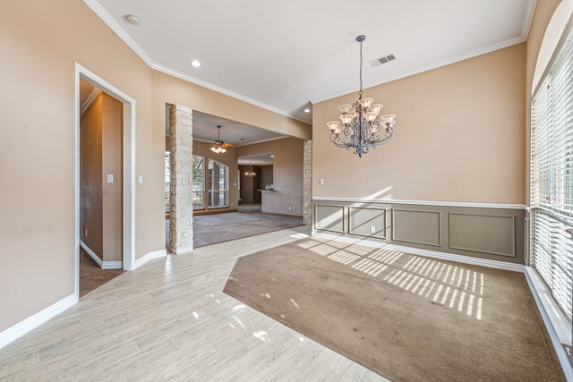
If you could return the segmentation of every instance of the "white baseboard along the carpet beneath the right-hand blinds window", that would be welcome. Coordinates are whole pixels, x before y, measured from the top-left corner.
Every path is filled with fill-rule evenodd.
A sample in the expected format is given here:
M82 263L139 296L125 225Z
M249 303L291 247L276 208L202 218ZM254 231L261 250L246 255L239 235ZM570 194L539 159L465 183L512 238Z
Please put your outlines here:
M527 285L529 285L529 289L537 304L537 309L543 318L547 333L552 340L553 349L555 349L557 353L563 374L565 374L565 378L569 382L573 382L573 368L571 368L567 352L565 352L562 346L562 344L571 345L569 319L561 312L557 306L557 302L552 297L551 291L545 285L535 268L526 267L525 274Z

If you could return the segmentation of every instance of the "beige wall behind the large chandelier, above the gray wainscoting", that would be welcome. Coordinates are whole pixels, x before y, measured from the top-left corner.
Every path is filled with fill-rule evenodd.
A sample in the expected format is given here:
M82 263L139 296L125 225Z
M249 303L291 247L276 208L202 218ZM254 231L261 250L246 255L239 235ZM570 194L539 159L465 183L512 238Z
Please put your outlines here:
M520 44L365 89L398 118L362 159L330 143L325 124L357 94L314 105L312 196L524 203L525 58Z

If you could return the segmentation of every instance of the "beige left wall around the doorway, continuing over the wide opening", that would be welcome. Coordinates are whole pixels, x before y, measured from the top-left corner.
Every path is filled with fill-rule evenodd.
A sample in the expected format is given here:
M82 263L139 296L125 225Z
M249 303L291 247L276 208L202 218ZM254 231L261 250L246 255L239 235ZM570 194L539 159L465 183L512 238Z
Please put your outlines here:
M81 0L0 3L0 332L73 293L74 62L134 98L135 258L165 249L165 104L310 138L310 127L154 72ZM17 164L17 165L16 165ZM17 256L15 256L17 254Z

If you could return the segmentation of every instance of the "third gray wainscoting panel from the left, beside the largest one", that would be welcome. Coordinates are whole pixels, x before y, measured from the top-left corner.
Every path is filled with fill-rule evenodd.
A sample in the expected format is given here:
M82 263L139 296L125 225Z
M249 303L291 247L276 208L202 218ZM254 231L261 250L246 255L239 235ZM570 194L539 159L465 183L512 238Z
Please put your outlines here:
M440 247L440 211L393 208L392 240Z

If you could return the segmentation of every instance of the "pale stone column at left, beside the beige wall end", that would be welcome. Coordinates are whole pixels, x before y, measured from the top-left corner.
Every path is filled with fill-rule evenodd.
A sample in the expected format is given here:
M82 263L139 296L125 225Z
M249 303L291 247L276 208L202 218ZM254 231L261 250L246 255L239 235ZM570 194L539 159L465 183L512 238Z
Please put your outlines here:
M169 108L171 149L171 195L169 252L193 250L193 136L192 109L174 105Z

